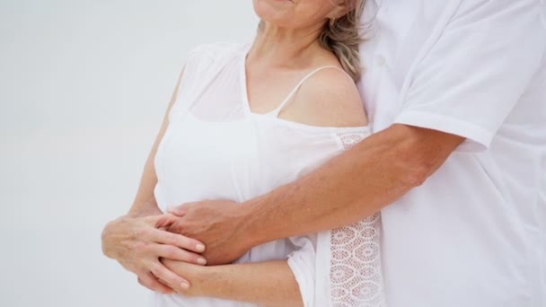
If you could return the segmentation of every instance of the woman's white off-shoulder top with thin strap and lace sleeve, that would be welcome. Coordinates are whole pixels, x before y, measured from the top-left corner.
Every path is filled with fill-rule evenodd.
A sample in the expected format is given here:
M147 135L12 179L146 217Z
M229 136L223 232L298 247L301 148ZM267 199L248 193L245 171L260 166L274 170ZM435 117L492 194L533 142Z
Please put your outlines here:
M258 197L369 136L368 127L314 127L277 118L307 77L329 67L307 75L277 110L252 113L244 68L248 48L216 44L190 53L155 156L154 195L163 210L203 199ZM331 232L271 241L237 262L287 259L305 306L382 306L379 225L376 215ZM163 307L252 306L179 294L154 294L153 301Z

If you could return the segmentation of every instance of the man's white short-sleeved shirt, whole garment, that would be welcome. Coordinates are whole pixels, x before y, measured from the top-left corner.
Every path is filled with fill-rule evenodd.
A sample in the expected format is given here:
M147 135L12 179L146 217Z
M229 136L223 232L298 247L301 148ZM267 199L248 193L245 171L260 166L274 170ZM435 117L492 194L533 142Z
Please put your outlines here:
M363 24L374 131L466 138L382 211L387 305L546 306L546 1L368 0Z

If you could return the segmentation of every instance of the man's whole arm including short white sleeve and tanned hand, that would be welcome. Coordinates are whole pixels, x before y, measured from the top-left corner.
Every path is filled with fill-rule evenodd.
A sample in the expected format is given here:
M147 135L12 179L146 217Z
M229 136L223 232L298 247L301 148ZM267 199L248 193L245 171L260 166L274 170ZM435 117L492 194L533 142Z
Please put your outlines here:
M418 61L399 124L240 206L176 208L184 216L173 230L206 242L209 263L224 263L260 242L349 224L387 206L426 180L463 139L467 150L489 147L542 63L545 18L539 0L462 1Z

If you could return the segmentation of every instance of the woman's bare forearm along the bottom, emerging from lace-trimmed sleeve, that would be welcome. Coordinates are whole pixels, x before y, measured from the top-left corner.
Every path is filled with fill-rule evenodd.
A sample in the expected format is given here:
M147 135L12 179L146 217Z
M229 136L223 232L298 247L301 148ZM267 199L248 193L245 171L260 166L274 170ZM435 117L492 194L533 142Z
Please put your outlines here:
M207 296L269 307L304 306L286 260L200 267L162 259L166 268L191 282L182 295Z

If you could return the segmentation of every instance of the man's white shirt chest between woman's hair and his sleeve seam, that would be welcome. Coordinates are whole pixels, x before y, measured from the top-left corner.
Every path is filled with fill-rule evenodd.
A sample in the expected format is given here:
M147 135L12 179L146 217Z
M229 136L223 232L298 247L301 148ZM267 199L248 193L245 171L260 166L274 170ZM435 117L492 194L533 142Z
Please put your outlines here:
M461 0L368 1L360 46L358 88L374 131L392 125L404 106L415 69L445 29Z

